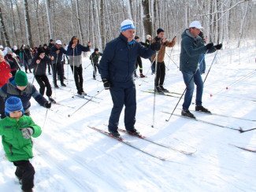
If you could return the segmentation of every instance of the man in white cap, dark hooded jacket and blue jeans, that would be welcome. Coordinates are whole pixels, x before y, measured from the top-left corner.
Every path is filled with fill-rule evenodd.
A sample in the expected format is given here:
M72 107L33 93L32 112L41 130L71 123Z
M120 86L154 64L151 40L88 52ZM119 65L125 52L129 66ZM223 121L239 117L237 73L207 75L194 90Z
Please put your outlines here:
M200 54L213 53L215 50L221 50L222 44L213 46L213 42L203 45L202 39L198 36L202 26L198 20L193 21L189 29L186 29L181 35L180 50L180 71L182 72L184 83L187 86L182 116L195 118L188 110L194 92L194 83L196 85L195 111L210 113L210 111L202 106L202 90L203 82L200 70L198 70L198 60ZM200 62L200 61L199 61Z

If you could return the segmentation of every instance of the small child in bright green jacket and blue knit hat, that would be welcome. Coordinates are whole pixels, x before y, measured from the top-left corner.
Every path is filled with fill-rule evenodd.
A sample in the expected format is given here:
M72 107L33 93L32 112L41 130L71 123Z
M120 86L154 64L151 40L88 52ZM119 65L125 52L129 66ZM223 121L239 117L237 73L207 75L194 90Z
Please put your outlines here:
M32 191L35 169L28 161L33 157L32 137L41 135L41 128L30 116L24 116L20 98L6 100L6 118L0 120L0 135L6 157L17 167L15 175L20 180L23 191Z

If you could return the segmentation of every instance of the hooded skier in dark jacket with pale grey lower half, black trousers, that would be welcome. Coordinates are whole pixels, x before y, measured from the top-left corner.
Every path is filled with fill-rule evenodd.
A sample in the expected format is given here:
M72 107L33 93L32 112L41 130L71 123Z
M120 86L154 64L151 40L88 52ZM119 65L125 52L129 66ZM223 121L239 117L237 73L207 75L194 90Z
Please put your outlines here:
M87 46L82 46L77 36L73 36L67 50L69 64L74 74L77 94L80 97L87 95L83 90L82 52L90 51L90 46L91 42L87 42Z

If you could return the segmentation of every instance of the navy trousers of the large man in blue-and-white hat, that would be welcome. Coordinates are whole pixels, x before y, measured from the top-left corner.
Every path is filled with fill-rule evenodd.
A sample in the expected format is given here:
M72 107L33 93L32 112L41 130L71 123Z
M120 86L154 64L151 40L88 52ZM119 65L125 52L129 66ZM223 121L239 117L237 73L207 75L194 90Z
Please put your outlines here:
M117 131L119 118L124 106L125 128L128 131L133 131L136 113L135 83L132 79L128 82L112 82L109 90L113 101L113 108L109 117L109 131Z

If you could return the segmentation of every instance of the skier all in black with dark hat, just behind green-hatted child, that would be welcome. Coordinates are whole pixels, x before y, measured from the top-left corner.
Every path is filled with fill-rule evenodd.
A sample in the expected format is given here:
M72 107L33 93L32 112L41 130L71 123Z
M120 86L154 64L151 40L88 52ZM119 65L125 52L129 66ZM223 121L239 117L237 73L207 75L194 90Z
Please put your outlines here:
M51 62L51 60L54 60L54 57L49 58L46 56L43 47L39 47L37 56L32 60L31 68L34 68L34 76L40 86L39 93L43 95L44 90L46 89L46 96L49 98L49 101L55 102L54 98L51 97L52 90L49 79L46 76L46 66Z

